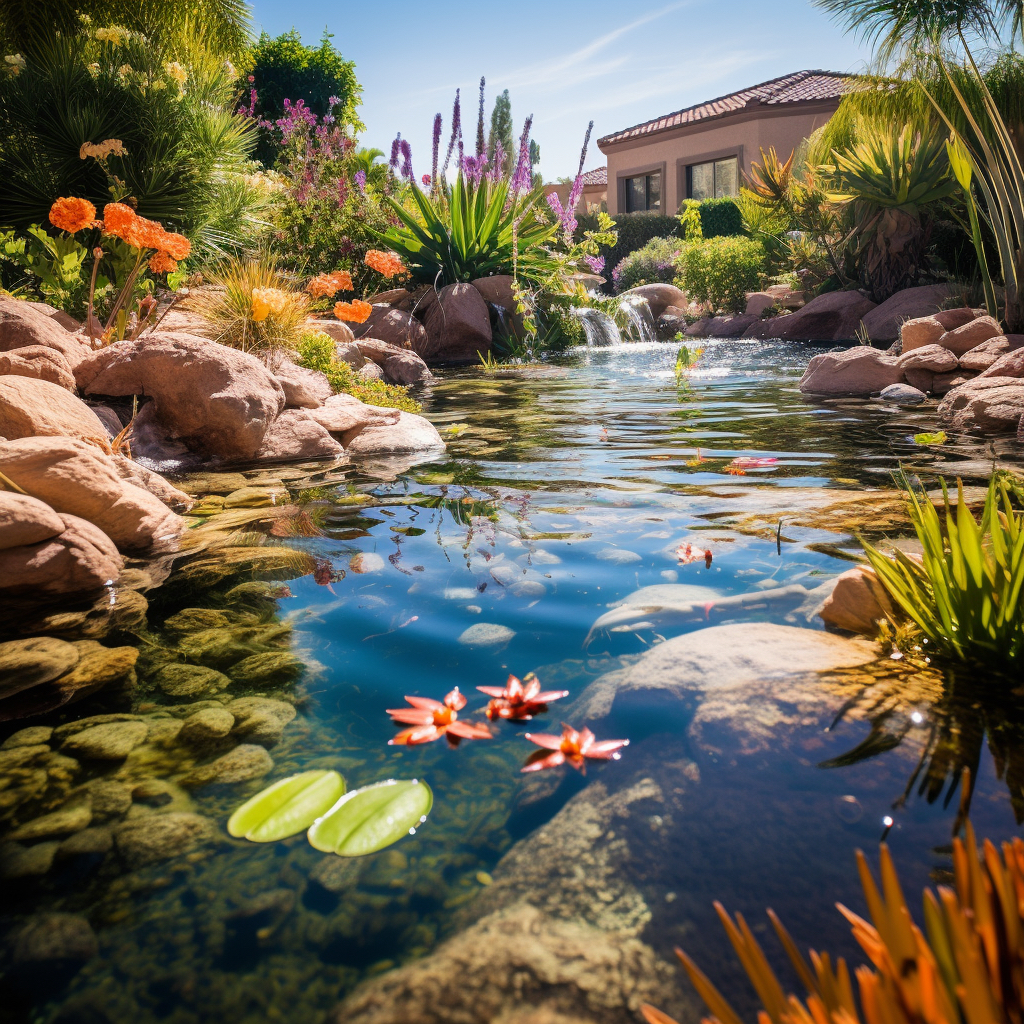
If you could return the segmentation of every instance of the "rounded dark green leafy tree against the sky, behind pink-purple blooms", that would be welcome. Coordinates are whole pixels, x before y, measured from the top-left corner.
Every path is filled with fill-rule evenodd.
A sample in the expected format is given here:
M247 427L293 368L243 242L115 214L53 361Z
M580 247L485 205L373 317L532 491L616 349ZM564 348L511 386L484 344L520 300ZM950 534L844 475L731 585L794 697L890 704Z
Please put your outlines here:
M325 30L318 46L305 46L294 29L276 39L265 32L260 36L246 61L256 90L256 118L276 121L285 113L286 99L293 104L301 99L317 117L330 114L342 128L366 129L356 113L362 87L355 62L335 49L332 38ZM332 97L338 99L334 106ZM267 166L273 164L276 147L269 138L261 138L257 157Z

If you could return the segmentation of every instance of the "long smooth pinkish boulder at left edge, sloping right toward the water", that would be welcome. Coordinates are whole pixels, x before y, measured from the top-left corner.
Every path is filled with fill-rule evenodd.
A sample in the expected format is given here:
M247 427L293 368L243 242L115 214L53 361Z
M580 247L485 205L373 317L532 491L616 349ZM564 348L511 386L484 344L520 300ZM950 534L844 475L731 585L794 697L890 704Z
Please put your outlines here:
M0 442L0 472L56 512L88 519L131 554L171 550L184 529L159 498L121 478L115 459L81 440Z

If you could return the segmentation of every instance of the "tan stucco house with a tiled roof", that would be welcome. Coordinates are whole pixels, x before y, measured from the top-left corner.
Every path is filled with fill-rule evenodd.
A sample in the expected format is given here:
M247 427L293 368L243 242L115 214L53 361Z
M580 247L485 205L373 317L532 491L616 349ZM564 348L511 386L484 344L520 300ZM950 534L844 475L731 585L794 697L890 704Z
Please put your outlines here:
M609 213L675 214L684 199L736 196L761 151L785 160L836 112L854 76L800 71L605 135Z

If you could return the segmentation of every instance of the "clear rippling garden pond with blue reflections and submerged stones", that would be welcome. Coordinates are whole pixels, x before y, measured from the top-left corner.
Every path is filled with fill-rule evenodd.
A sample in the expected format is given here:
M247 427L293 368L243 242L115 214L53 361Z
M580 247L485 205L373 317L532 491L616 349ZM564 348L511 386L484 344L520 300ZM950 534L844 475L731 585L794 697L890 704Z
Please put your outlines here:
M49 782L36 788L30 776L40 769L24 759L9 767L10 753L28 746L0 751L0 797L31 792L2 804L4 827L20 836L5 856L49 844L37 850L41 871L3 883L0 1020L455 1020L451 1008L395 1007L429 990L431 972L470 964L493 968L494 987L510 984L516 967L500 943L501 963L486 961L495 914L592 957L595 976L612 955L602 942L622 953L621 991L592 985L580 1020L639 1019L630 992L664 996L667 1010L698 1020L670 966L676 945L753 1018L754 993L714 900L744 914L773 964L768 906L802 948L859 963L834 905L864 911L856 849L874 858L885 834L916 907L920 889L949 870L964 766L976 780L979 834L1017 835L1024 709L1006 687L987 692L984 679L886 662L767 695L720 692L723 681L710 679L702 697L641 685L610 707L594 698L663 642L710 626L753 631L716 634L736 645L711 652L726 660L744 653L743 637L761 642L763 624L820 632L814 591L850 567L851 531L899 531L894 470L926 482L929 472L961 471L979 482L993 456L1012 458L967 438L923 449L913 434L932 429L926 410L805 400L797 381L812 353L709 342L697 368L677 376L676 346L626 345L445 372L424 396L449 440L442 459L252 474L271 497L237 507L216 544L146 593L146 621L104 641L138 648L137 688L3 726L0 738L57 726L41 741L51 759L86 716L144 721L150 732L127 759L63 757L62 783L46 761ZM207 483L221 497L233 486ZM214 497L198 511L222 504ZM686 544L692 560L679 557ZM261 560L257 550L280 557ZM647 587L663 589L614 607ZM206 683L168 683L162 673L181 652L210 670ZM546 689L569 691L539 721L497 722L495 738L456 749L388 745L396 727L385 710L406 694L440 698L458 686L469 698L464 716L483 721L487 698L476 687L530 672ZM244 703L252 697L264 703ZM297 716L274 711L282 703ZM176 731L225 705L245 724L236 733L246 751L269 748L273 766L259 778L204 776L204 765L230 754L234 733L190 727L185 742ZM522 774L536 750L523 733L557 732L563 720L631 744L586 776L568 766ZM304 836L267 845L227 837L234 807L311 768L336 768L349 788L421 778L433 809L415 835L358 860L319 853ZM93 846L16 831L89 786ZM114 806L118 793L130 809ZM120 838L124 822L168 815L177 830ZM98 953L46 961L46 970L19 959L18 929L50 913L86 918ZM461 952L445 962L438 946L460 936ZM419 981L408 975L417 963ZM369 1000L350 996L368 979L383 987ZM467 983L496 1017L515 1005L479 977ZM339 1010L346 997L354 1001ZM492 1011L458 1019L490 1020Z

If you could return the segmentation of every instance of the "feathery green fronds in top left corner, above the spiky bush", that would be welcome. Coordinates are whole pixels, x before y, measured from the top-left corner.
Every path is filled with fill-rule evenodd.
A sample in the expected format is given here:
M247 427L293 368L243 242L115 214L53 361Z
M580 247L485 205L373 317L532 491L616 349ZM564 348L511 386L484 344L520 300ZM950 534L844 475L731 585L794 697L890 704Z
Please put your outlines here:
M164 44L187 35L219 56L239 53L250 35L246 0L3 0L0 43L5 53L28 57L54 35L78 35L90 23L140 32Z

